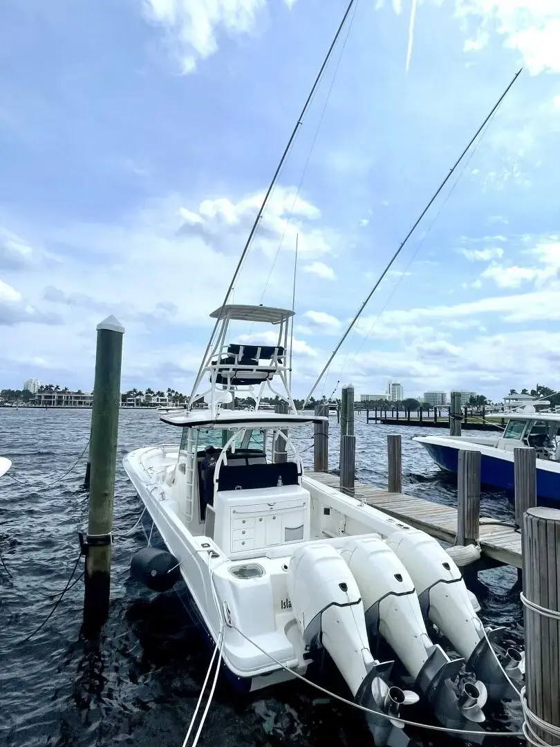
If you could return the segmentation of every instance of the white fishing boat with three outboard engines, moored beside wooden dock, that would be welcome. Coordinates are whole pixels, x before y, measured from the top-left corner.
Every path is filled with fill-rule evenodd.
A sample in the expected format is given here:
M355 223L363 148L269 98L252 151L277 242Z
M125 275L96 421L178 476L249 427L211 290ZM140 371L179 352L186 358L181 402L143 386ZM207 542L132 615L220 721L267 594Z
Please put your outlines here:
M427 534L305 474L291 434L326 418L298 414L293 403L293 311L231 304L211 317L217 324L190 397L191 408L204 397L208 410L163 415L180 443L124 459L169 551L140 550L134 577L164 591L182 576L240 689L305 675L327 651L354 701L370 709L376 744L405 746L399 708L418 695L391 686L392 662L372 653L381 636L442 724L481 728L487 696L503 697L508 685L452 557ZM273 326L276 344L228 341L237 322ZM269 389L287 413L261 409ZM237 391L252 392L255 409L230 409ZM432 642L425 621L461 658ZM519 680L523 655L500 648L502 634L488 631Z

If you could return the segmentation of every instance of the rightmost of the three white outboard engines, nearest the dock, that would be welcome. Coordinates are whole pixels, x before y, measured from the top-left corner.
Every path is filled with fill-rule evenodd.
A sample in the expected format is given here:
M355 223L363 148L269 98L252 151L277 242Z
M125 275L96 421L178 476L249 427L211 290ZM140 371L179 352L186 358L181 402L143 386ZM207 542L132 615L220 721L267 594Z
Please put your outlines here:
M447 636L455 651L466 660L467 669L484 682L491 698L510 695L511 686L488 645L484 626L474 611L461 571L444 548L426 533L413 529L392 533L386 542L408 570L424 618L431 620ZM498 643L503 632L502 628L497 628L488 636ZM522 653L505 647L498 655L512 680L523 678Z

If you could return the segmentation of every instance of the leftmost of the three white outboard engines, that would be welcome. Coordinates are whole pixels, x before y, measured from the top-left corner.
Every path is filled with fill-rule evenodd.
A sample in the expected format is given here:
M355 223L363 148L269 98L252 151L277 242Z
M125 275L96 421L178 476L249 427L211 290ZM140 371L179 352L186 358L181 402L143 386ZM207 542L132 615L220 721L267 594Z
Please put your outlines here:
M306 647L326 648L355 701L380 714L367 714L376 745L406 747L399 707L418 697L389 686L393 663L373 658L360 592L340 553L319 542L298 548L288 566L287 592Z

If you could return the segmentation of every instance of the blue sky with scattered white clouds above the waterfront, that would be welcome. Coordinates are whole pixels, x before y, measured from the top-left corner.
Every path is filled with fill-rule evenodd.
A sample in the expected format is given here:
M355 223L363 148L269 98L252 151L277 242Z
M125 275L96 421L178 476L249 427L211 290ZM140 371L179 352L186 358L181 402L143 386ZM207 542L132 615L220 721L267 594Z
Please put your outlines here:
M0 388L190 391L347 0L3 0ZM234 287L308 393L560 389L560 0L355 0ZM254 331L252 331L252 334ZM248 339L245 337L244 339Z

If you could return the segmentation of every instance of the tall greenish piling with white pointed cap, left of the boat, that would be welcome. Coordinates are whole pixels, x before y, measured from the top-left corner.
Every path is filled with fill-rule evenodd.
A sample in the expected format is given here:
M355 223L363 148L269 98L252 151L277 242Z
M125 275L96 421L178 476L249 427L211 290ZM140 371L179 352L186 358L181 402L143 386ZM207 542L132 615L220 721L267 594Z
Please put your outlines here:
M90 441L90 515L84 576L84 624L87 627L101 626L109 613L111 532L124 332L124 327L113 316L97 325Z

